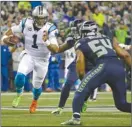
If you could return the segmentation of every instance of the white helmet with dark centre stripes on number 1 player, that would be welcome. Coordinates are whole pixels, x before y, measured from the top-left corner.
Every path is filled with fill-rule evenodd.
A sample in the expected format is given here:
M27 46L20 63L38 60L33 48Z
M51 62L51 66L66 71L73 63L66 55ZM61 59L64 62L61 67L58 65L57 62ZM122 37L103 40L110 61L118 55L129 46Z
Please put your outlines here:
M43 6L36 6L32 12L36 27L41 28L48 21L49 13Z

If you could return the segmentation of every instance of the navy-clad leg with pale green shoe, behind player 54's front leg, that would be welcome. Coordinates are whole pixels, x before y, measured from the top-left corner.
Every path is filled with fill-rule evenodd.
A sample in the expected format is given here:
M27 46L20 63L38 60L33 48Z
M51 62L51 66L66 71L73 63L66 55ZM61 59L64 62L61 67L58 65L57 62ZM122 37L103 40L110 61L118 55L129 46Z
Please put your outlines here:
M65 103L69 97L70 89L77 79L78 79L78 76L76 74L75 67L69 68L68 73L67 73L66 82L65 82L65 84L62 88L62 91L61 91L58 108L56 110L52 111L53 114L61 114L62 109L65 106Z

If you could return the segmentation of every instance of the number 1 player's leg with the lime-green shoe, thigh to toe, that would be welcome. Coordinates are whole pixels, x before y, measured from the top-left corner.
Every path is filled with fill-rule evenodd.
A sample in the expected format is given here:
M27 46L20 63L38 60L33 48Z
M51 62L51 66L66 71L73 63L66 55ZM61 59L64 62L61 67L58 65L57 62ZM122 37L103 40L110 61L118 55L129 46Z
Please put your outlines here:
M16 87L17 96L14 98L12 102L13 107L17 107L20 102L21 95L23 93L23 87L26 82L26 75L33 70L33 67L34 62L32 60L32 57L29 56L28 54L25 54L20 61L18 71L15 76L14 84Z

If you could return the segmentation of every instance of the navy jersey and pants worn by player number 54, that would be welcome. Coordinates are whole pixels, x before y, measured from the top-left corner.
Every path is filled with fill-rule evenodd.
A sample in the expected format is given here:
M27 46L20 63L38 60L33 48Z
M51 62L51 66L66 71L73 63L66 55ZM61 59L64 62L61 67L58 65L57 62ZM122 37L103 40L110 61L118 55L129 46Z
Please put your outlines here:
M77 99L73 104L74 112L78 112L77 103L83 103L87 94L90 95L92 90L104 83L110 85L117 109L123 112L131 112L131 104L126 102L123 63L118 59L112 41L105 35L91 32L90 35L88 34L76 43L75 49L76 51L80 50L84 58L93 63L95 67L84 76L76 92L76 96L80 94L80 99Z

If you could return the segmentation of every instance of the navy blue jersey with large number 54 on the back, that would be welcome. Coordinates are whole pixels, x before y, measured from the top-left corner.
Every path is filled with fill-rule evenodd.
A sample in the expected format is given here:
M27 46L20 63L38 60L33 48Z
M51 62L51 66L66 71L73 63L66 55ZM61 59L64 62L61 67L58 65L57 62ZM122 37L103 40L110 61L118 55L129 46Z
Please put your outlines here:
M75 44L75 49L83 52L89 62L96 64L100 58L116 57L112 41L105 35L91 35L80 39Z

